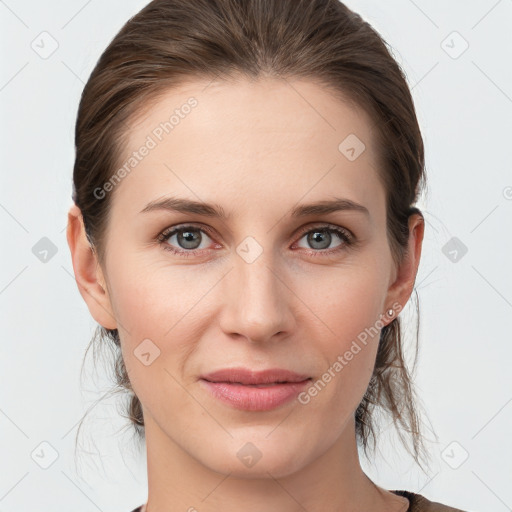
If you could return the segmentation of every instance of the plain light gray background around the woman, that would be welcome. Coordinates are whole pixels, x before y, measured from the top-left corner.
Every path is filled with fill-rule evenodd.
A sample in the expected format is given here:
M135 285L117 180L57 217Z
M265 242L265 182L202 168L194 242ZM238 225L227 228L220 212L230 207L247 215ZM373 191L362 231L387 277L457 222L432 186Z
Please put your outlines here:
M94 406L109 381L90 358L80 385L96 324L65 237L79 96L101 52L146 3L0 1L0 511L128 512L147 496L145 454L118 432L116 401ZM424 134L416 384L439 436L429 475L390 429L376 462L362 464L388 489L464 510L512 510L512 1L347 4L393 47ZM43 31L58 43L48 58L31 47L51 48ZM57 251L46 262L33 250L43 237ZM457 261L446 246L453 237L468 249L456 249ZM412 319L410 306L403 315ZM77 471L74 438L88 407Z

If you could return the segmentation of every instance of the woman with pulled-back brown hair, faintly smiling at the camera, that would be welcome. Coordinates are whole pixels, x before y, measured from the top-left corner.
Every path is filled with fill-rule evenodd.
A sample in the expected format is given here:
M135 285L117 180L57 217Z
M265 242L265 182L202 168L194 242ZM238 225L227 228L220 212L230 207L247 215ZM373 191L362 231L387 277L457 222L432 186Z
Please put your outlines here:
M399 314L424 149L379 35L337 0L155 0L80 102L67 231L118 350L160 511L453 511L358 445L424 448Z

